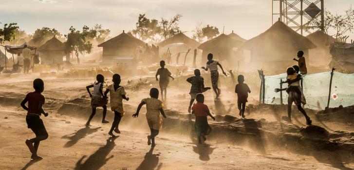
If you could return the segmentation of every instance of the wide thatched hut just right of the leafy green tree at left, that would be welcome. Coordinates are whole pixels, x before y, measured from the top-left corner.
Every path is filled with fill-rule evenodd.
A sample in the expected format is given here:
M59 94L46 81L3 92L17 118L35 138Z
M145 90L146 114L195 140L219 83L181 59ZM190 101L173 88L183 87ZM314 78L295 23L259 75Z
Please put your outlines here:
M112 61L115 57L132 57L138 46L145 46L144 41L123 33L111 38L98 47L103 47L103 60Z

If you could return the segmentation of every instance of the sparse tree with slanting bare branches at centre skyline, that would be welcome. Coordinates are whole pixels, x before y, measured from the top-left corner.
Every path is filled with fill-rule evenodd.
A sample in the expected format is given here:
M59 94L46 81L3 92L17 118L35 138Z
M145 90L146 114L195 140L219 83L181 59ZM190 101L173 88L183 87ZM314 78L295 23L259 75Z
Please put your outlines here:
M180 32L180 27L178 26L178 22L182 18L181 14L176 14L174 17L171 19L167 20L164 18L161 18L160 21L160 36L163 39L168 39Z

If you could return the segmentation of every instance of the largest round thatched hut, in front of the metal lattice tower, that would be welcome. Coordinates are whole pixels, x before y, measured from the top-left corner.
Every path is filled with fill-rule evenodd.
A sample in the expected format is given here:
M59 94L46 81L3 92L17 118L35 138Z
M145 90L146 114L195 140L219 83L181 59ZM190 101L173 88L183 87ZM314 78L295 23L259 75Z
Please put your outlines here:
M271 72L283 72L286 67L297 64L297 52L302 50L308 63L309 49L316 48L308 38L278 20L268 30L243 43L240 51L250 51L251 69L263 69Z

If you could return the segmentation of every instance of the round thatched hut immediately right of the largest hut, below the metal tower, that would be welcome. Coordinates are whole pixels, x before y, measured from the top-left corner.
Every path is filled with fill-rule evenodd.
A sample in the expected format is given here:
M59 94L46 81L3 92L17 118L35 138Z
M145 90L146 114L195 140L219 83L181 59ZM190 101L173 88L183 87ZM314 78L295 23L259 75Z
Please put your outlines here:
M335 43L335 38L321 30L306 36L317 47L309 50L309 64L312 66L327 66L331 62L330 45Z

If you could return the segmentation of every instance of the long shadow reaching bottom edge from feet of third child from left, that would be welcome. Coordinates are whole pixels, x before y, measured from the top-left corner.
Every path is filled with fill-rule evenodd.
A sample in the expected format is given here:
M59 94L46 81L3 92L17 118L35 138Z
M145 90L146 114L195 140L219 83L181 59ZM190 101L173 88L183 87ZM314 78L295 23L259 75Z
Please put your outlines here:
M102 168L108 160L110 160L113 155L106 158L108 154L113 150L115 144L114 140L118 136L114 138L107 139L107 143L105 146L100 147L97 151L95 151L89 158L86 159L85 162L82 163L82 160L87 156L84 155L79 159L76 163L75 170L99 170Z

